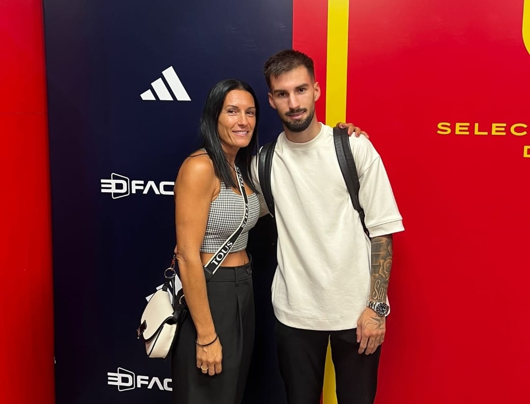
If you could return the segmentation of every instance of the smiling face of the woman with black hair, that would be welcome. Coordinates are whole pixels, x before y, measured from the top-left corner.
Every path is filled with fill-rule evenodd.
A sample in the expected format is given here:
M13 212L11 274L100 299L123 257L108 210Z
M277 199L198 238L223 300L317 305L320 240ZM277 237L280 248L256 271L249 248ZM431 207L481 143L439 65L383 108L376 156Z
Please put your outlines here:
M223 103L217 120L217 131L224 151L248 146L256 125L254 98L245 90L232 90Z

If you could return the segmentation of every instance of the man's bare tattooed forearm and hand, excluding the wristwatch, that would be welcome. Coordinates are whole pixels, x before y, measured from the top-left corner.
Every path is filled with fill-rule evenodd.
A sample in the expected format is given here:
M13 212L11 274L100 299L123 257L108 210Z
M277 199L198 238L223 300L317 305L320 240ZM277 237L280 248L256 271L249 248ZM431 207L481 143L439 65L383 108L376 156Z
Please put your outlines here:
M372 238L372 281L370 300L386 302L392 269L392 234ZM357 320L359 353L372 354L385 340L386 319L365 308Z

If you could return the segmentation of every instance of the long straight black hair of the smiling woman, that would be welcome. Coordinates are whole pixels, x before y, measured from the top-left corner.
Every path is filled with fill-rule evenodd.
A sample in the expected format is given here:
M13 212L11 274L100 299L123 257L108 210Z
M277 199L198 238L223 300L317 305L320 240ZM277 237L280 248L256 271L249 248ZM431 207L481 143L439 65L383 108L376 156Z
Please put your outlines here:
M244 181L254 192L257 192L250 174L250 162L258 144L260 106L254 90L247 82L237 79L224 79L210 89L206 97L204 111L202 111L200 118L199 136L202 139L202 148L208 152L211 161L214 163L215 174L219 180L223 181L227 187L238 188L232 177L230 166L221 146L219 132L217 131L217 121L223 109L226 95L232 90L248 91L252 95L252 98L254 98L254 104L256 106L256 124L250 143L248 146L239 149L235 157L235 163L241 170Z

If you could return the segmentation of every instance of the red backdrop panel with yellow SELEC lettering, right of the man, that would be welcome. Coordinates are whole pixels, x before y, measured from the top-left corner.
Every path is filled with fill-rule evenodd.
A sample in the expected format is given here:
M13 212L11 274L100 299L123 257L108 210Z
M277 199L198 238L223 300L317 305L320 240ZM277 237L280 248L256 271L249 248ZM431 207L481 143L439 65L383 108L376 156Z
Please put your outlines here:
M405 224L379 404L520 402L530 133L509 128L530 126L522 13L523 0L350 1L347 117L372 135Z

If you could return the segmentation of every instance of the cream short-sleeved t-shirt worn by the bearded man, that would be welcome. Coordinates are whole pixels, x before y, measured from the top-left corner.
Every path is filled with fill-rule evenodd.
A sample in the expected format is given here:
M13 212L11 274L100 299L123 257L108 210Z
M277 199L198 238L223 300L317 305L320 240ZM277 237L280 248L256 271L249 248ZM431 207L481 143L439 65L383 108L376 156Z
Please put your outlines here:
M403 231L379 154L364 136L349 140L370 237ZM259 186L255 157L252 175ZM371 243L351 204L330 126L322 124L307 143L290 142L285 132L279 135L271 189L278 227L272 281L276 317L303 329L356 328L370 292ZM260 201L267 209L262 196Z

